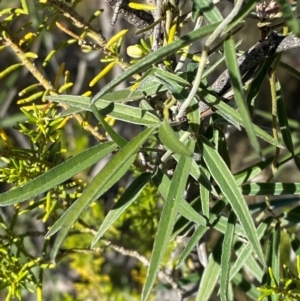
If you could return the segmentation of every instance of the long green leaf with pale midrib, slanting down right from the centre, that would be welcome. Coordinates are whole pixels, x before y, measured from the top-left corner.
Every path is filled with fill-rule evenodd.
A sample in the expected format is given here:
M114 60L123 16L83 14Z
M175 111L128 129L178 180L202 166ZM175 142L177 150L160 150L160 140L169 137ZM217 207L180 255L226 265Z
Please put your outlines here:
M200 139L199 144L207 168L218 184L220 190L230 203L232 209L234 210L237 218L239 219L242 227L245 230L245 234L249 242L252 244L259 260L263 263L264 256L261 250L252 217L250 215L248 206L241 194L241 191L235 183L233 175L228 170L227 165L224 163L217 151L210 145L209 141L205 137L202 137Z

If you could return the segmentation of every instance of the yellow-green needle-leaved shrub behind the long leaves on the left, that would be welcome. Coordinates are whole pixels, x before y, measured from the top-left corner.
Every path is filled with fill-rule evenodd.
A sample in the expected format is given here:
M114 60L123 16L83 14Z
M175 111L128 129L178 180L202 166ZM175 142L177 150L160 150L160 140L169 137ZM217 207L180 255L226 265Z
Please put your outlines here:
M117 33L106 42L98 30L91 25L103 10L95 11L85 22L77 13L78 7L83 5L81 2L16 0L0 3L2 41L0 50L1 57L7 58L6 61L2 59L5 63L1 65L2 70L0 70L1 86L2 90L3 87L5 88L5 93L13 85L19 89L17 102L23 116L18 115L19 122L14 125L19 135L27 137L26 141L29 144L28 148L20 147L18 138L8 133L7 125L3 123L0 127L0 181L13 184L13 187L24 185L68 157L80 153L87 147L91 137L100 141L106 140L104 131L101 129L97 131L97 128L89 124L89 116L77 114L73 115L74 118L60 117L59 106L45 100L49 94L70 92L75 76L68 70L71 66L67 62L60 61L59 56L61 53L66 53L65 51L69 55L72 50L65 49L74 44L77 44L78 48L81 47L83 53L99 52L99 50L105 53L101 57L102 71L94 77L90 76L89 81L81 83L82 95L90 95L90 87L97 85L112 68L117 65L121 68L129 66L120 56L127 30ZM56 36L60 40L58 43L54 41ZM90 42L86 42L85 39ZM47 46L49 41L55 43L50 48ZM48 53L39 51L43 47ZM59 66L53 74L52 67L58 61L60 61ZM27 80L21 84L18 78L21 78L22 70L26 70ZM0 96L3 98L3 94ZM69 130L76 131L77 135L74 136L76 139L65 130L72 119L76 119L77 123L72 124ZM115 122L110 117L107 117L106 121L110 126ZM88 171L82 172L74 180L53 188L45 195L30 200L21 208L14 206L12 216L8 220L1 219L0 288L8 292L7 300L14 297L21 300L22 290L35 293L38 300L43 299L42 269L53 267L49 263L49 241L44 240L43 236L48 225L53 224L80 196L85 186L85 179L88 179ZM120 193L121 191L122 187ZM124 240L124 247L149 253L158 223L158 204L157 191L149 186L130 211L127 211L114 225L107 238L119 242ZM146 268L139 262L135 268L125 271L122 275L118 275L117 267L111 267L113 272L105 271L104 265L109 265L107 253L112 252L109 251L109 247L103 245L98 248L99 251L89 250L94 235L93 229L100 225L105 210L103 200L92 204L81 217L82 223L79 222L74 227L59 256L60 260L63 259L69 269L73 269L78 275L78 281L74 284L76 300L98 300L99 296L101 300L123 300L126 294L137 296L145 277ZM30 218L41 219L44 230L29 231L26 227L23 229L22 224L30 225ZM125 236L122 236L122 232L127 228L126 225L128 231L125 231ZM42 249L30 255L27 252L28 247L32 245L33 237L42 240ZM30 241L29 245L26 239ZM125 254L123 256L126 258ZM33 268L40 272L34 274ZM126 288L131 278L136 283L135 287ZM116 279L121 280L118 288L112 284ZM72 298L71 295L69 297L67 294L63 295L64 297L61 298L64 300Z

